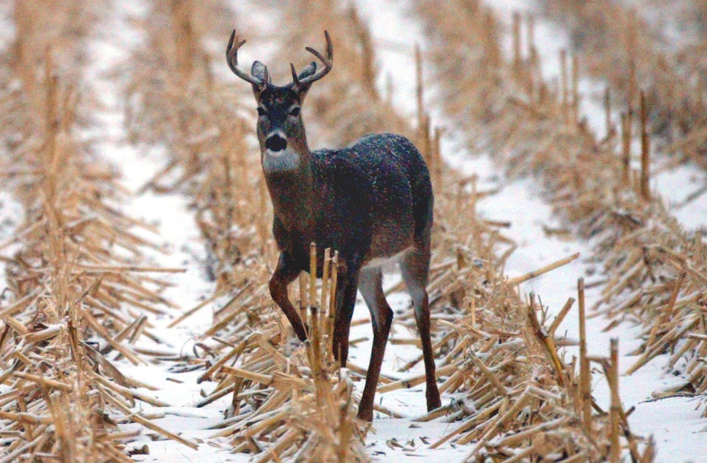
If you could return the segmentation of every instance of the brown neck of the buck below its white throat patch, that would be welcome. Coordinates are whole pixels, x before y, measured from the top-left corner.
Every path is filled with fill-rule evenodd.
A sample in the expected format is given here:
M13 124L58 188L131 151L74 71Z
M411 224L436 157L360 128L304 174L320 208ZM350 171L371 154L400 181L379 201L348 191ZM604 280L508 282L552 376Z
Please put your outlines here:
M273 168L279 159L263 149L262 164L275 216L291 231L307 232L313 225L316 191L312 172L312 152L306 139L293 144L288 161L290 168ZM283 155L281 155L283 156ZM293 159L296 158L296 162Z

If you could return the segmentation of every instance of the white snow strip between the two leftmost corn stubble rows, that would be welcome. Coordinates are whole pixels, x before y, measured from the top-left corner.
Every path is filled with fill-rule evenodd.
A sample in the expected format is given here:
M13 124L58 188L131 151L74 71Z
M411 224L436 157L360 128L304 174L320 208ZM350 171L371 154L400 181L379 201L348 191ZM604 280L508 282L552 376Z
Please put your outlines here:
M122 16L112 18L112 24L105 28L103 36L93 43L93 55L97 59L90 74L106 109L97 114L99 125L92 135L100 136L97 146L98 155L119 168L122 171L123 185L128 190L136 192L163 167L167 157L161 149L139 152L128 144L124 131L122 101L115 81L106 75L112 66L122 62L131 44L140 40L139 34L126 25L129 14L141 13L143 10L137 8L132 2L127 5L132 7L123 10ZM179 305L176 314L191 309L214 293L214 283L207 280L204 270L206 261L204 244L194 222L194 213L189 210L188 200L184 195L155 194L146 191L131 197L129 202L122 205L122 210L132 217L144 219L158 227L156 234L142 229L134 231L160 244L160 251L149 249L145 251L148 261L164 267L187 270L185 273L169 275L167 280L171 285L163 292L165 299ZM219 302L221 301L217 299L207 304L175 328L167 327L172 320L168 316L151 317L151 323L155 324L153 332L169 343L169 345L151 347L178 354L192 353L194 342L199 340L206 328L211 327L211 310ZM210 382L197 384L196 379L202 371L175 373L168 370L171 365L166 362L148 366L134 366L128 362L119 363L120 370L125 375L158 388L157 391L142 389L141 392L171 405L169 408L155 408L143 404L143 410L148 413L165 414L164 418L156 419L155 423L181 435L182 438L200 442L201 445L199 450L195 451L173 440L153 442L148 437L150 434L148 430L143 430L143 435L134 443L134 447L141 447L147 443L149 455L134 455L134 459L144 462L247 461L247 455L229 453L228 440L211 438L216 430L210 428L222 421L223 410L230 404L230 398L225 397L209 406L197 408L196 404L201 400L202 392L209 394L216 384ZM135 427L136 425L125 426L126 429Z

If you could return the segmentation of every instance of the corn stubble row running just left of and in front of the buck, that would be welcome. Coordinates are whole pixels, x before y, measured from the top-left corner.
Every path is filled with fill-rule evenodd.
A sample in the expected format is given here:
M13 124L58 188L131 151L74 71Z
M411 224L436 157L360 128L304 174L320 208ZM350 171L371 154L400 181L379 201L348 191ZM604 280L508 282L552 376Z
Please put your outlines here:
M154 3L151 20L143 25L149 42L157 45L150 50L160 63L157 66L166 65L173 72L158 72L146 63L130 76L128 128L134 142L169 147L167 168L148 188L177 190L192 198L210 251L216 296L227 302L214 311L214 326L204 333L218 339L213 345L216 359L194 359L190 362L194 365L176 368L202 366L205 371L199 382L218 382L199 406L223 396L232 398L228 418L214 430L214 437L230 438L235 451L257 453L258 461L284 457L366 461L361 440L354 438L353 384L350 377L334 372L328 342L335 251L326 256L332 268L331 285L327 279L315 297L316 285L300 284L303 319L316 328L305 345L291 345L288 321L267 290L269 263L275 257L270 202L255 156L257 147L248 139L252 123L245 122L237 98L250 88L232 87L232 81L226 84L214 77L211 54L204 47L209 36L197 33L194 25L201 6L195 1L178 3L180 8L170 2ZM161 28L162 22L173 27ZM192 33L185 35L185 30ZM187 38L189 45L182 47L193 51L190 62L178 62L171 44ZM134 56L143 50L134 50ZM221 53L216 57L216 63L221 63ZM153 73L160 78L144 79ZM201 137L204 132L208 135ZM189 144L192 139L197 144ZM200 304L188 314L203 307Z

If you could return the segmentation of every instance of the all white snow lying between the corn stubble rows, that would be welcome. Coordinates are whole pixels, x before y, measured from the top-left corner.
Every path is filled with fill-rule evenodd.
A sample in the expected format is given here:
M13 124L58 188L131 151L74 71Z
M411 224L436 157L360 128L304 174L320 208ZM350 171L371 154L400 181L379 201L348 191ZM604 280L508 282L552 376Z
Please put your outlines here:
M134 2L129 2L133 4ZM414 40L421 38L421 28L416 21L411 21L405 15L405 4L390 0L380 3L359 0L358 6L363 17L369 21L374 38L382 43L401 42L413 50ZM518 9L527 11L532 5L528 1L489 1L498 8L498 15L510 19L510 11ZM135 7L132 7L135 9ZM243 8L242 6L240 7ZM124 13L127 14L127 13ZM244 15L245 16L245 15ZM126 18L115 18L115 24L107 28L105 36L95 43L93 50L98 63L94 69L95 85L98 93L103 96L106 110L100 113L100 127L97 134L101 134L103 142L100 143L99 154L107 161L119 166L124 176L124 185L130 190L139 187L163 165L164 159L158 149L148 152L138 152L124 141L122 113L120 110L119 96L115 82L108 80L103 71L110 69L112 64L124 57L128 49L126 43L139 40L134 30L126 27ZM538 19L536 22L536 37L539 51L542 52L544 73L548 76L559 74L558 50L566 46L566 33L558 30L553 25ZM378 55L378 64L382 68L382 76L389 74L394 77L396 91L394 101L405 114L414 113L414 62L412 55L404 54L390 47L382 47ZM428 75L431 73L427 73ZM385 87L385 77L381 78L380 85ZM588 88L592 83L583 82L583 88ZM596 91L596 87L595 90ZM585 98L582 111L588 115L590 126L601 133L604 127L603 109L592 103L592 99ZM439 114L434 117L441 118ZM443 152L446 161L451 166L459 168L464 173L476 173L480 179L480 188L500 188L496 195L479 202L479 214L489 219L510 220L512 225L504 233L518 244L518 251L511 256L506 265L506 273L513 277L522 275L530 270L535 270L547 265L558 258L580 252L582 258L563 266L557 270L543 275L521 285L522 294L535 292L542 297L543 304L549 306L551 313L558 311L568 297L575 297L577 278L588 275L592 264L585 261L592 255L592 243L577 239L560 239L557 236L546 236L543 226L560 227L561 224L551 213L551 208L542 199L542 191L533 179L508 181L503 176L503 167L494 164L487 154L469 153L458 149L453 137L445 140ZM452 154L453 153L453 154ZM682 188L680 198L699 188L704 183L701 174L694 173L690 167L674 169L658 176L656 188L661 194L671 190L670 185L679 183L689 185ZM707 195L703 195L707 196ZM670 200L680 202L677 196ZM0 197L4 205L6 200ZM144 217L148 222L158 226L159 233L150 235L153 240L163 244L165 253L151 253L150 258L159 265L170 267L183 267L186 273L170 276L173 286L165 291L165 297L176 301L180 311L194 307L199 300L213 293L214 285L206 280L204 275L204 251L199 232L194 225L193 213L189 211L187 199L179 194L142 193L124 205L124 210L136 217ZM707 210L707 205L701 202L691 202L689 205L676 210L677 217L682 223L690 223L690 217L707 217L702 214ZM3 216L4 217L4 216ZM699 219L695 219L694 226L699 226ZM2 239L0 228L0 239ZM387 284L394 282L391 275ZM587 307L591 307L597 300L599 289L590 289L587 292ZM389 297L392 309L395 311L409 304L409 298L404 294L395 294ZM167 317L152 320L156 324L155 332L160 337L168 339L170 348L175 352L189 353L194 345L194 340L203 333L205 328L211 326L210 310L214 304L209 304L197 314L185 320L177 328L167 328ZM354 320L368 318L368 309L359 301L354 313ZM635 329L621 325L610 333L602 332L607 321L600 317L588 319L588 341L590 354L606 355L609 348L609 338L621 340L621 370L625 371L633 363L629 352L638 346ZM410 333L400 324L393 326L392 338L415 338L416 333ZM560 331L566 331L568 337L578 338L577 311L573 309L563 322ZM351 339L367 337L368 340L351 346L350 360L361 367L368 366L372 334L370 324L355 326L351 329ZM577 355L576 348L567 348L567 355ZM383 374L391 377L402 377L397 373L397 367L407 360L419 355L419 349L411 345L397 345L389 343L386 349ZM706 427L707 421L699 418L699 412L694 408L694 401L684 398L672 398L660 401L646 402L650 393L656 389L663 389L676 384L675 378L662 370L665 356L659 357L648 363L631 376L622 375L621 398L624 408L636 406L636 411L630 416L629 421L634 433L639 435L655 435L658 441L658 458L662 461L685 461L695 459L697 448L707 448L707 435L699 433ZM210 439L214 430L208 428L218 423L222 412L228 406L228 398L220 399L214 404L204 408L197 408L195 404L201 399L201 389L214 387L213 383L196 384L198 372L173 373L166 370L169 365L158 364L147 367L132 367L121 364L121 370L132 377L148 382L159 388L158 391L144 391L146 394L162 399L172 405L171 408L152 408L145 406L146 411L165 413L165 418L156 421L182 437L200 440L199 451L180 445L173 441L148 440L145 436L139 441L149 442L150 455L136 456L141 461L196 461L224 462L247 461L247 455L233 455L228 453L228 442L225 440ZM418 364L407 375L419 375L423 367ZM170 379L176 379L174 382ZM363 389L363 382L356 384L358 391ZM402 461L411 457L422 458L420 461L457 461L468 452L466 447L452 447L444 445L438 450L429 450L422 438L433 442L454 429L455 423L413 423L410 417L426 412L424 399L424 385L411 389L399 389L386 394L378 394L376 399L384 406L402 413L407 418L391 419L376 413L373 430L366 440L368 452L380 461ZM600 375L595 377L594 394L600 406L607 408L609 396L607 388ZM450 400L443 396L443 401ZM659 419L657 419L659 417ZM395 440L401 447L392 445ZM392 448L389 446L392 445ZM138 445L138 446L139 446ZM670 456L670 458L668 457Z

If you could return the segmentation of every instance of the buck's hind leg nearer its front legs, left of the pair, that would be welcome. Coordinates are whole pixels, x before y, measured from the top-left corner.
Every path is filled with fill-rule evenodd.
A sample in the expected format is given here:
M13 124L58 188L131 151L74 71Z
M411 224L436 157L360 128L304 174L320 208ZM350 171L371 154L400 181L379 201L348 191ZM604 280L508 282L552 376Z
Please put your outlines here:
M375 389L378 387L380 367L385 354L385 345L388 342L390 323L393 311L385 300L382 288L382 272L378 268L363 268L358 279L358 290L366 301L370 311L370 320L373 324L373 348L370 350L370 363L366 375L366 387L363 388L361 403L358 404L358 419L373 420L373 399Z

